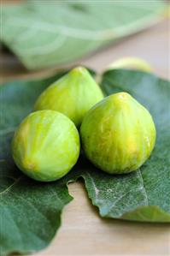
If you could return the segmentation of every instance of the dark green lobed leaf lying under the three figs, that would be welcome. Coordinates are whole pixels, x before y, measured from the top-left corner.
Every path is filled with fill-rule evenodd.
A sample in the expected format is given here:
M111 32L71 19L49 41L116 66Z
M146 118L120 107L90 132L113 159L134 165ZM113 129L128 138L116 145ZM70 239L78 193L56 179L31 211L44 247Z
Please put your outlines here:
M157 129L155 151L141 170L109 176L85 157L58 182L34 182L23 176L10 153L15 127L32 110L38 94L62 74L47 80L10 82L0 87L0 254L32 253L46 247L60 226L61 212L72 198L67 182L80 176L102 217L170 222L170 85L153 74L111 70L102 86L109 94L126 91L152 113Z

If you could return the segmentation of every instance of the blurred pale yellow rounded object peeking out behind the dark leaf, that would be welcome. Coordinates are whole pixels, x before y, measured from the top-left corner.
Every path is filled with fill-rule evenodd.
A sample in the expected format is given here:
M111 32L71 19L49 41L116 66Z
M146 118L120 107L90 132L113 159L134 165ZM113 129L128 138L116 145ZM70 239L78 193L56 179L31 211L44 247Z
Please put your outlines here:
M144 61L143 59L137 58L137 57L124 57L116 60L114 63L111 63L108 66L108 69L114 69L114 68L132 68L132 69L138 69L145 72L152 72L153 68Z

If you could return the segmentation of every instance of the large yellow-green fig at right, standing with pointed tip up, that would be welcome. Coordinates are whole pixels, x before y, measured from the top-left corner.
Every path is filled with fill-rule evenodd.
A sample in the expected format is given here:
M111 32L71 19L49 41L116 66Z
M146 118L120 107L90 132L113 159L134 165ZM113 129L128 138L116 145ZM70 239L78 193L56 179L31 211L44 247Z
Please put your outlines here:
M109 174L138 170L155 146L155 134L149 111L126 92L93 106L80 127L86 157Z

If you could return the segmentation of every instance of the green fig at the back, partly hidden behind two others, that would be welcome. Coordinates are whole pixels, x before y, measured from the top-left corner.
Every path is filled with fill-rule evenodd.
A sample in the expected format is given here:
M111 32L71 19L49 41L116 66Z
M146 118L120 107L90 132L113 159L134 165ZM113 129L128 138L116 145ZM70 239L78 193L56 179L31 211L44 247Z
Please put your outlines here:
M56 110L77 127L85 113L103 99L103 92L86 68L73 68L38 97L34 110Z

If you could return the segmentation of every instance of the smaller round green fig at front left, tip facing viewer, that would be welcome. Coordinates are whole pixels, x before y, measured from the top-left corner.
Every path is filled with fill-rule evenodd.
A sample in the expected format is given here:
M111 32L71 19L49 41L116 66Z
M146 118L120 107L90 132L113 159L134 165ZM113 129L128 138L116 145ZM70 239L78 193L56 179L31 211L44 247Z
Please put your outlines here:
M74 123L54 110L33 112L21 122L12 140L15 164L26 176L52 182L65 176L79 158Z

